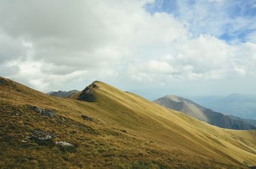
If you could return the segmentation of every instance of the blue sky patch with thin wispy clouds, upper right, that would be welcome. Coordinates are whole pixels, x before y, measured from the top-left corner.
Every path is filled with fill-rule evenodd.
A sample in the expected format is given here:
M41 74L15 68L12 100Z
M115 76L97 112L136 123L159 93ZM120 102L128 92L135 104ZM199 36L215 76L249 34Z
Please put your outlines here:
M256 30L256 0L156 0L145 9L152 15L164 12L187 22L193 36L211 34L227 42L245 42Z

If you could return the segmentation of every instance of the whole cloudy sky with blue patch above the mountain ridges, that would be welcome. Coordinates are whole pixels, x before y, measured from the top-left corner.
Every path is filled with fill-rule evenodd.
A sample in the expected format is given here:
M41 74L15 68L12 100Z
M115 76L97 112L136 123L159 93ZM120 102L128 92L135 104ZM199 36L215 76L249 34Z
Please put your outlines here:
M256 1L0 0L0 75L42 92L256 94Z

